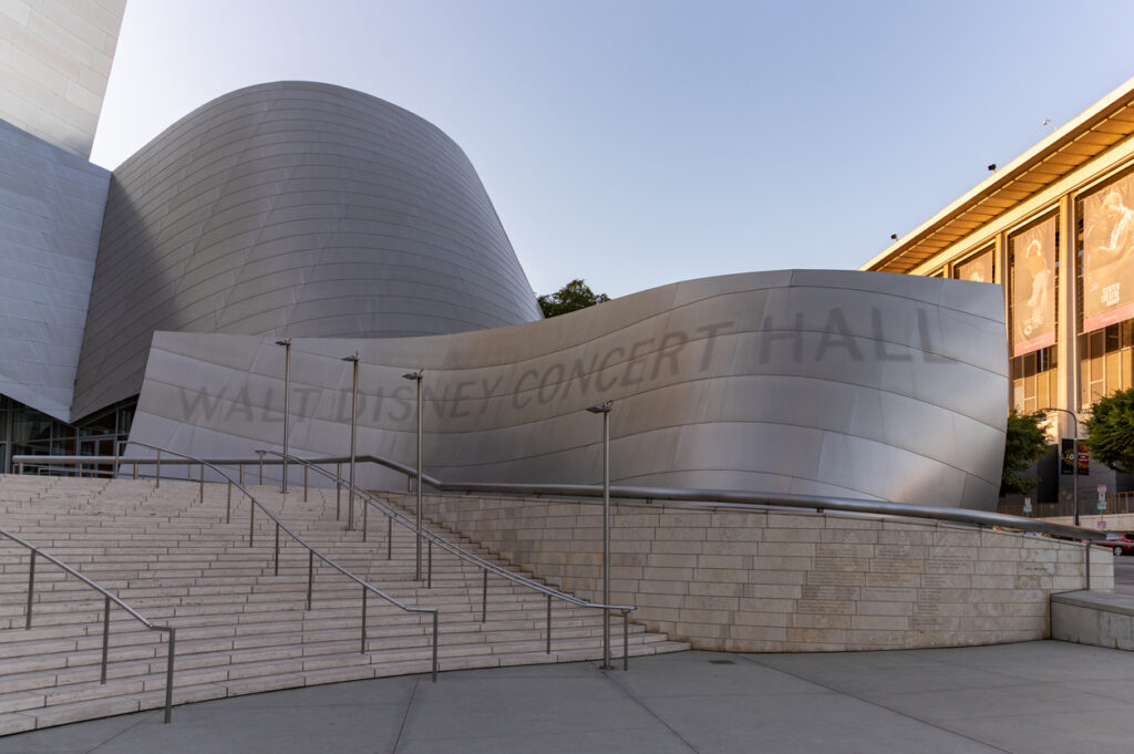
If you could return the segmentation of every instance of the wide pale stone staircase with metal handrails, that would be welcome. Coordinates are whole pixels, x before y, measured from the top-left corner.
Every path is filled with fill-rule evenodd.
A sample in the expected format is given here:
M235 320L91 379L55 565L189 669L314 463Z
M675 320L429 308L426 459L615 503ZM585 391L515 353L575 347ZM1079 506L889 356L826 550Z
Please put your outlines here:
M441 670L601 658L601 613L552 603L552 653L545 649L547 598L489 577L481 622L482 570L433 551L432 588L414 581L414 536L371 511L369 542L336 520L333 490L252 486L253 494L332 560L412 607L440 611ZM361 652L362 587L316 559L306 609L307 551L226 484L0 476L0 528L35 544L155 624L177 628L174 703L382 676L428 672L432 619L375 595L367 601ZM357 503L356 503L357 505ZM451 542L471 548L460 537ZM164 704L163 634L112 608L107 683L99 683L103 598L37 560L32 628L24 629L28 551L0 540L0 735ZM501 564L502 565L502 564ZM621 619L611 647L621 656ZM688 649L632 624L631 655ZM443 683L443 677L441 681Z

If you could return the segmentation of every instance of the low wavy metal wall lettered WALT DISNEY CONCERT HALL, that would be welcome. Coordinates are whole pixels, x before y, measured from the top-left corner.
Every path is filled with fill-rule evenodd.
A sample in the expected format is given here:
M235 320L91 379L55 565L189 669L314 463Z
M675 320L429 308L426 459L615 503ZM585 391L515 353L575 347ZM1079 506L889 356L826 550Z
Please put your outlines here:
M361 353L359 448L441 478L592 483L612 399L619 484L991 510L1007 414L1000 289L883 273L694 280L528 324L432 338L299 339L290 447L341 455ZM244 455L282 438L284 349L156 333L132 438ZM381 483L375 478L372 483Z

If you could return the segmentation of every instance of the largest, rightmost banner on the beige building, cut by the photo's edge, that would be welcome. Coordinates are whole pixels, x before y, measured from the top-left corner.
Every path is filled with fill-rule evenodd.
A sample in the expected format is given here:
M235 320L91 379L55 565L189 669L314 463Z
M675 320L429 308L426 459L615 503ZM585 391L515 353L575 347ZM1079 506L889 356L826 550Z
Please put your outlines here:
M1134 317L1134 176L1083 198L1083 332Z

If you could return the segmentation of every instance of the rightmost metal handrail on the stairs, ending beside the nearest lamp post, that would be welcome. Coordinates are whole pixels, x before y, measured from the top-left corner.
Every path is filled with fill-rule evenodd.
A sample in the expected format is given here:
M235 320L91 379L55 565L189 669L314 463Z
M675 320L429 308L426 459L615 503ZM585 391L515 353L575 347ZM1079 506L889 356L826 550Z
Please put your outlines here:
M280 452L278 452L276 450L257 450L256 452L257 454L266 454L266 455L276 456L276 457L279 457L281 459L284 457L282 454L280 454ZM489 560L485 560L484 558L481 558L481 557L479 557L476 554L473 554L472 552L468 552L467 550L465 550L463 548L459 548L459 547L452 544L451 542L445 540L443 537L441 537L438 534L429 531L428 528L424 528L424 527L418 528L417 524L416 524L416 522L414 519L409 518L408 516L401 514L400 511L398 511L398 510L396 510L393 508L390 508L383 501L381 501L378 498L375 498L367 490L364 490L364 489L359 488L358 485L352 485L350 482L348 482L347 480L342 478L341 473L333 474L333 473L324 469L319 464L316 464L316 463L314 463L312 460L308 460L306 458L301 458L298 456L288 455L287 459L289 461L291 461L291 463L301 464L303 466L304 472L305 472L304 473L304 485L306 485L306 483L307 483L306 471L308 468L311 468L311 469L314 469L316 474L320 474L321 476L323 476L323 477L325 477L328 480L331 480L336 484L336 490L339 490L341 488L346 488L348 491L353 491L354 494L357 495L363 501L363 503L365 503L364 507L363 507L363 525L362 525L363 542L366 541L366 536L367 536L367 516L366 516L366 511L369 511L370 508L373 507L380 514L382 514L383 516L386 516L386 520L387 520L387 524L388 524L388 526L387 526L387 533L386 533L386 545L387 545L386 557L387 557L387 560L389 560L391 558L391 554L392 554L392 547L393 547L392 545L392 541L393 541L392 527L393 527L395 523L397 523L399 526L403 526L403 527L409 530L415 535L418 535L422 539L424 539L428 542L428 548L426 548L426 552L428 552L426 562L428 562L428 565L426 565L426 569L425 569L425 574L426 574L426 576L425 576L425 578L426 578L425 587L426 588L432 588L432 586L433 586L433 545L434 544L438 545L440 549L445 550L446 552L448 552L449 554L452 554L452 556L455 556L455 557L457 557L457 558L459 558L459 559L462 559L462 560L464 560L466 562L469 562L469 564L474 565L475 567L482 569L482 571L484 574L484 577L483 577L483 579L481 582L481 622L484 622L486 620L486 617L488 617L488 599L489 599L488 598L488 584L489 584L489 573L496 574L497 576L500 576L501 578L505 578L505 579L507 579L507 581L514 583L514 584L517 584L519 586L523 586L523 587L526 587L526 588L530 588L530 590L533 590L533 591L536 591L536 592L540 592L540 593L547 595L547 598L548 598L547 628L545 628L545 652L547 652L547 654L551 654L551 601L552 600L560 600L562 602L567 602L569 604L573 604L573 605L575 605L577 608L586 608L586 609L594 609L594 610L616 610L616 611L620 612L621 613L621 618L623 618L623 670L627 670L628 669L628 667L629 667L628 666L628 662L629 662L629 659L628 659L629 658L629 613L637 609L635 605L602 604L600 602L590 602L587 600L583 600L583 599L581 599L578 596L575 596L574 594L569 594L567 592L561 592L561 591L559 591L559 590L557 590L555 587L548 586L547 584L541 584L541 583L534 581L534 579L527 578L526 576L521 576L519 574L515 574L515 573L513 573L510 570L507 570L506 568L502 568L502 567L498 566L497 564L493 564L493 562L491 562ZM414 473L416 474L416 472L414 472ZM337 493L337 497L338 497L338 493ZM336 519L338 519L338 508L339 508L339 506L336 506L336 509L337 509L336 510Z

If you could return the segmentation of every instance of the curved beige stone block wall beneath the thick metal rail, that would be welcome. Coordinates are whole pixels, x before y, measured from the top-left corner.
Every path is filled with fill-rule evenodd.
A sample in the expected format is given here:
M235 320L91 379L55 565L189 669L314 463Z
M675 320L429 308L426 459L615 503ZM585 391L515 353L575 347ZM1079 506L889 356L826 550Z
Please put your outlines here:
M423 509L549 584L601 596L601 502L425 495ZM1030 641L1050 636L1052 593L1086 587L1085 552L931 520L612 505L611 600L705 650ZM1112 590L1111 558L1092 552L1093 590Z

